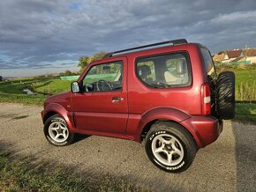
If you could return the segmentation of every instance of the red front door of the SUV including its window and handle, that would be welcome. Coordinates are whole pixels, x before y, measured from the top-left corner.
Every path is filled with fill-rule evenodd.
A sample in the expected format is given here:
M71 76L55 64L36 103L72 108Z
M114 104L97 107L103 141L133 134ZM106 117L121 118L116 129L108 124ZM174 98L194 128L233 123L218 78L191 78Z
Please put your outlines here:
M124 133L128 119L127 59L94 63L79 82L82 92L72 95L78 129Z

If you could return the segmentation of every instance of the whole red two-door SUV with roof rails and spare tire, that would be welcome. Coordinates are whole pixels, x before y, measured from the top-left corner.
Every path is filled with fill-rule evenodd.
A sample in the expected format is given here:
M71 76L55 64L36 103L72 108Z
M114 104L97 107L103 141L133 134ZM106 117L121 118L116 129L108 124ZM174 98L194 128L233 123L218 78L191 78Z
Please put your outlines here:
M71 144L75 133L144 141L155 166L179 173L234 111L234 73L217 76L209 50L182 39L90 63L71 92L45 101L41 117L50 144Z

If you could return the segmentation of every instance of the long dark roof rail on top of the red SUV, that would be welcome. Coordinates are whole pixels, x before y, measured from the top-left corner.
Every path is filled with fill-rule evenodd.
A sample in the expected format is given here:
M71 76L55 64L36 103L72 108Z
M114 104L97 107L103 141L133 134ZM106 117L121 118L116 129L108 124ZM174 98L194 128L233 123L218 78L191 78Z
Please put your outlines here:
M160 46L160 45L169 44L169 43L172 43L173 45L182 45L182 44L186 44L187 41L185 39L178 39L178 40L157 42L157 43L148 44L148 45L144 45L144 46L139 46L139 47L135 47L135 48L127 48L127 49L123 49L123 50L110 52L110 53L104 55L103 58L110 57L114 54L119 54L119 53L128 52L128 51L141 49L141 48L150 48L150 47Z

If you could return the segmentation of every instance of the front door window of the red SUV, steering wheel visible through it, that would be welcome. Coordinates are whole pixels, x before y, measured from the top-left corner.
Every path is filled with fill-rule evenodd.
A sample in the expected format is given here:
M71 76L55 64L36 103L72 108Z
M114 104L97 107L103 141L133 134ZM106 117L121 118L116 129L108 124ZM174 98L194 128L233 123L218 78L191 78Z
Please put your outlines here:
M122 90L123 61L102 63L91 67L83 79L83 92L114 92Z

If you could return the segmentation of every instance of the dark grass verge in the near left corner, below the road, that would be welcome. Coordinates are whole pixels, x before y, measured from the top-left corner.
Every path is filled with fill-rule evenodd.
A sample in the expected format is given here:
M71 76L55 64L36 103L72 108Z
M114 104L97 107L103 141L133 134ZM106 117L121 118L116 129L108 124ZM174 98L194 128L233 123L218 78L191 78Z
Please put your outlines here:
M11 152L0 151L0 191L146 191L108 175L97 178L73 171L53 162L14 159Z

